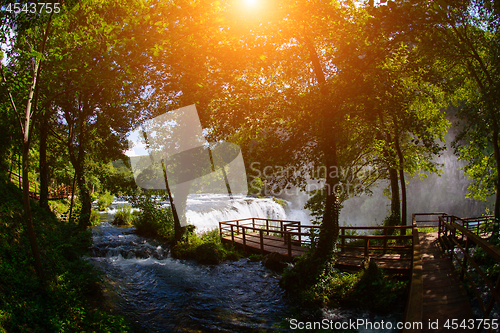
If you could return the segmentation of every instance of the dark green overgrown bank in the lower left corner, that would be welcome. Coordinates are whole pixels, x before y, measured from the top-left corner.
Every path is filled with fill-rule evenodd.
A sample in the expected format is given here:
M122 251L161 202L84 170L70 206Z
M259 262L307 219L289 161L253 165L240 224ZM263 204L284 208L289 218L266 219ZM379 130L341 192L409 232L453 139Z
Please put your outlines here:
M31 202L46 282L37 279L23 222L22 194L0 174L0 332L127 332L103 311L100 278L82 259L90 231Z

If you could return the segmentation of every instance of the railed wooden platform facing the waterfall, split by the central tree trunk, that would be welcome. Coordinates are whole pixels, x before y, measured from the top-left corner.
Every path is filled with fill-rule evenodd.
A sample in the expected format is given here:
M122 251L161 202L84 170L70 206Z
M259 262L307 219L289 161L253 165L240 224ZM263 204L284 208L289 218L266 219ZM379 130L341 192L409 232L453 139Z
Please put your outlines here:
M279 253L284 260L292 260L305 254L311 244L311 229L296 221L269 219L243 219L220 222L221 240L232 243L248 253ZM410 227L397 227L406 232ZM358 235L352 232L379 231L381 235ZM412 263L412 246L402 242L411 240L411 235L388 235L389 227L341 227L341 242L335 266L345 270L360 270L368 260L392 273L409 274ZM400 243L387 245L389 240ZM384 243L385 242L385 243Z

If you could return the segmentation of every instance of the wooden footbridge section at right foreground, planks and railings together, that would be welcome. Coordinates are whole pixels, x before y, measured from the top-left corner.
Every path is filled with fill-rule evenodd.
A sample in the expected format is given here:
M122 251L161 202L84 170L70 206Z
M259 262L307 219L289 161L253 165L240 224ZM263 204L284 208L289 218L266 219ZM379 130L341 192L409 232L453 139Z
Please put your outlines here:
M490 267L491 263L500 263L500 250L486 241L491 236L493 222L491 216L413 214L413 226L432 227L435 232L419 233L417 229L414 233L404 321L422 325L408 325L403 332L498 332L500 324L496 328L491 325L491 313L495 308L498 315L500 309L500 274L488 276L484 266L485 261L489 261ZM473 258L475 251L484 251L483 265ZM467 282L475 295L473 301L478 308L475 314L462 281ZM430 327L429 323L436 322L438 327Z

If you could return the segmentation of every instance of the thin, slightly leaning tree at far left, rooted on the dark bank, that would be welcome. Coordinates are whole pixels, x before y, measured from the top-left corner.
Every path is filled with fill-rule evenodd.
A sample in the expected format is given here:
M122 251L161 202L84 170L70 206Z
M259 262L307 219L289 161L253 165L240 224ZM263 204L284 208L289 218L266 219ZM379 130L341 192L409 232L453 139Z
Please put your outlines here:
M38 80L41 73L42 57L45 54L47 40L50 35L53 12L45 15L40 13L37 16L37 19L29 20L27 13L23 15L22 12L16 16L14 12L5 11L2 15L2 43L7 45L8 64L7 66L4 66L3 63L1 64L1 73L4 89L11 107L10 112L14 113L17 118L19 129L22 133L24 219L35 260L35 269L40 281L44 283L44 271L40 260L40 252L30 207L29 150L33 118L37 111ZM26 68L28 69L27 71L25 70ZM14 75L15 72L18 75ZM13 91L12 87L15 87L16 91ZM23 94L26 97L21 97ZM21 112L19 110L19 105L25 105L24 111Z

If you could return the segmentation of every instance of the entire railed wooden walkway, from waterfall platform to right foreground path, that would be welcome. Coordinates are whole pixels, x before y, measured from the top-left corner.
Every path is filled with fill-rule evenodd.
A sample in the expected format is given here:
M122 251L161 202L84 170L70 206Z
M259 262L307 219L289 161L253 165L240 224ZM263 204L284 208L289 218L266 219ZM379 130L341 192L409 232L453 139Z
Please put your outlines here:
M493 221L491 216L421 213L413 215L411 226L341 227L336 265L359 269L374 260L386 271L410 276L402 332L497 332L500 323L497 329L491 325L491 313L500 311L500 274L488 276L473 258L482 249L487 260L500 263L500 250L485 240ZM319 232L297 221L260 218L220 222L219 230L223 242L246 252L277 252L286 259L306 253ZM476 317L464 280L476 296L476 312L481 312ZM480 323L484 330L478 329Z

